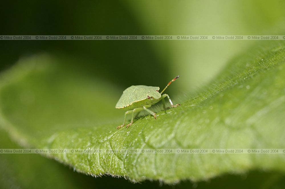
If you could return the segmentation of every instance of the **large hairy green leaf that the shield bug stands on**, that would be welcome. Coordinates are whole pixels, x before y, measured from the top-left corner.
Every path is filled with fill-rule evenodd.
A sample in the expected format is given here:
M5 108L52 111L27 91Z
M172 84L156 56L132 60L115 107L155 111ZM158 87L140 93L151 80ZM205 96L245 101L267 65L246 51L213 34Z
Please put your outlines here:
M68 69L60 58L35 56L2 74L0 125L21 145L36 148L284 148L284 55L284 42L262 42L232 59L213 83L180 107L158 112L157 119L142 117L121 130L116 127L123 111L114 106L123 89ZM251 169L285 170L284 154L50 157L78 172L133 181L177 182Z

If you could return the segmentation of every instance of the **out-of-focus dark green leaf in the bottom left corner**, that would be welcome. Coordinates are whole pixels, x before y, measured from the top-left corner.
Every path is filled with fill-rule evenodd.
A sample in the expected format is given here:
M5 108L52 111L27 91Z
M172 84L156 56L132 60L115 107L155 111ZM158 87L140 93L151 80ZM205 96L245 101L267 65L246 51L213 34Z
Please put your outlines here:
M1 130L0 148L21 149ZM91 188L103 186L39 154L0 154L1 188Z

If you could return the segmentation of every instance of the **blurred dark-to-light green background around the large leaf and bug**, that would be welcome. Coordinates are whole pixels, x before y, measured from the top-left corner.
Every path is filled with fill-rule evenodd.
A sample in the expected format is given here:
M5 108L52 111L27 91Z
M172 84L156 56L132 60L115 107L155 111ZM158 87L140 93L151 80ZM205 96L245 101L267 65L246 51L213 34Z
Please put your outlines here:
M29 1L2 3L1 35L269 35L284 34L284 1ZM66 61L66 69L77 70L94 79L111 83L118 91L130 85L164 87L176 75L179 82L171 86L171 94L183 100L211 81L229 59L249 48L256 41L0 41L0 69L10 68L22 57L47 53ZM72 61L68 61L72 60ZM119 99L119 96L118 96ZM115 104L114 104L115 106ZM1 131L2 132L2 131ZM16 144L1 133L1 147ZM33 155L36 156L36 155ZM27 158L27 157L24 157ZM32 157L23 161L23 155L1 155L1 182L3 188L37 187L35 182L54 180L59 172L62 179L55 183L69 184L75 180L86 186L108 187L110 182L133 187L123 178L91 178L72 172L68 167L45 159ZM13 159L13 161L12 161ZM21 159L21 161L18 161ZM15 162L29 165L25 169L10 169ZM38 162L34 164L33 162ZM17 164L16 164L17 165ZM35 167L42 166L41 171ZM58 171L57 171L58 170ZM25 172L39 179L22 182ZM42 176L38 176L40 172ZM17 176L21 175L21 176ZM220 187L219 183L251 182L266 177L266 186L278 185L284 178L279 173L250 172L246 176L225 175L211 181L182 182L179 187ZM14 178L15 177L15 178ZM254 178L247 181L247 178ZM11 182L7 182L10 179ZM15 180L15 182L14 182ZM25 180L25 178L23 178ZM233 181L234 180L234 181ZM10 184L9 184L10 183ZM12 184L11 184L12 183ZM13 184L14 183L14 184ZM17 184L15 184L17 183ZM56 184L53 183L54 186ZM108 183L108 185L106 184ZM217 184L215 184L217 183ZM277 184L276 184L277 183ZM50 182L46 183L52 184ZM259 183L260 184L260 183ZM280 184L280 183L279 183ZM80 187L71 184L74 188ZM146 182L136 187L156 187L158 182ZM69 185L66 185L67 187ZM249 187L251 185L246 185ZM170 186L164 186L170 188ZM17 187L16 187L17 188ZM49 187L47 187L49 188Z

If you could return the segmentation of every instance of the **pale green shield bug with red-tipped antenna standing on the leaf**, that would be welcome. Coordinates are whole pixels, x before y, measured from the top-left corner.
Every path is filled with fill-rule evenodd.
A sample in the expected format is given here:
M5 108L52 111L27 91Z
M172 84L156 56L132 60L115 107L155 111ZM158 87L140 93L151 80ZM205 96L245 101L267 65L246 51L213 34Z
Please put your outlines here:
M127 124L127 128L133 124L134 121L134 113L140 112L142 110L146 110L148 113L152 114L153 117L156 119L156 114L149 110L148 108L162 100L164 105L164 98L167 97L171 107L180 106L180 104L173 105L172 101L170 100L167 94L162 93L165 89L175 81L179 75L173 78L171 81L168 82L166 87L159 93L159 87L152 87L152 86L145 86L145 85L133 85L128 87L124 92L119 101L117 102L116 108L117 109L125 109L125 118L124 122L121 126L118 126L117 129L122 128L125 126L127 114L132 114L131 123Z

